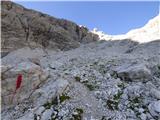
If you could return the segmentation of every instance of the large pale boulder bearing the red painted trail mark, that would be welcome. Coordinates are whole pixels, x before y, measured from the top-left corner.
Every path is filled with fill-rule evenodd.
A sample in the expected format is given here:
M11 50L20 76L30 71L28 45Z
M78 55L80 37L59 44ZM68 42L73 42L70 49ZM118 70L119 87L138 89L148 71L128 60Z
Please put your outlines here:
M22 84L16 91L17 76L22 75ZM34 90L49 77L49 71L31 62L22 62L16 66L2 66L2 108L14 105L28 98ZM14 95L15 94L15 95Z

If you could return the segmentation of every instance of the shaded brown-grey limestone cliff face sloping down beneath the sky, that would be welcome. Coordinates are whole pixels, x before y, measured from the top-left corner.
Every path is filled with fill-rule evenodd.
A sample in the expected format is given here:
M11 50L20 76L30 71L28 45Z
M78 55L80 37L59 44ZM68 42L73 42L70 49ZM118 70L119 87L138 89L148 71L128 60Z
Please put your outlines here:
M10 1L2 1L2 50L31 48L69 50L80 43L96 41L83 26L64 19L29 10Z

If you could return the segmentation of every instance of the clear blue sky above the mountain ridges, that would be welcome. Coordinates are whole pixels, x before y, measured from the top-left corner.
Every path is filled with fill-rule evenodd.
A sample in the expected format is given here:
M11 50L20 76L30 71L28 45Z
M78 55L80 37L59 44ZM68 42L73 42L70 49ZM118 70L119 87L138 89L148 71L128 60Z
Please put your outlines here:
M116 35L144 26L158 15L159 3L154 2L25 2L17 3L26 8L51 16L71 20L89 29L98 28L107 34Z

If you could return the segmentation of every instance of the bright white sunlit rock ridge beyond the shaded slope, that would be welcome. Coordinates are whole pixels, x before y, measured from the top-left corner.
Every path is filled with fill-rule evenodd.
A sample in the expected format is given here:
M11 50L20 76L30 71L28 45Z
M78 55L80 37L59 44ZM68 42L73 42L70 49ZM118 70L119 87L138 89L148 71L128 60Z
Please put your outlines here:
M123 40L131 39L139 43L151 42L160 39L160 15L149 20L149 22L142 28L130 30L126 34L122 35L108 35L102 31L94 29L93 33L99 35L101 40Z

